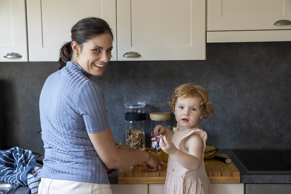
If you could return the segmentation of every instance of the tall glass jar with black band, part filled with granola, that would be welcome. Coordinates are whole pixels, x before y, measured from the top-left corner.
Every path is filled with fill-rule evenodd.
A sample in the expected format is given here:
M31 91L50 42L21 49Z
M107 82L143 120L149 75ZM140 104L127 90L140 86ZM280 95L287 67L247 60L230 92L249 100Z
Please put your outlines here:
M145 104L125 103L125 141L136 149L145 147Z

